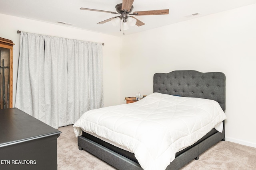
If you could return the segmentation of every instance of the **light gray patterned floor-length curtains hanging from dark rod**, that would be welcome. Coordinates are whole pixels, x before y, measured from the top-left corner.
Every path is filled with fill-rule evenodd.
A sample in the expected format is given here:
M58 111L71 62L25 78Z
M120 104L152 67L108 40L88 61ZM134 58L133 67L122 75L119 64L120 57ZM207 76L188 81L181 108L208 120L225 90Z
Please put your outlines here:
M57 129L103 106L101 43L20 33L15 107Z

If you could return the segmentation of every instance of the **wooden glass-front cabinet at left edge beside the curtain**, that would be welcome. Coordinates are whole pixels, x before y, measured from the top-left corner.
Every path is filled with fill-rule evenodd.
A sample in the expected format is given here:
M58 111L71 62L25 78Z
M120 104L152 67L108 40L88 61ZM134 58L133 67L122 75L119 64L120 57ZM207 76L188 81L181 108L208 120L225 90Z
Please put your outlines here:
M13 45L11 40L0 37L0 109L12 107Z

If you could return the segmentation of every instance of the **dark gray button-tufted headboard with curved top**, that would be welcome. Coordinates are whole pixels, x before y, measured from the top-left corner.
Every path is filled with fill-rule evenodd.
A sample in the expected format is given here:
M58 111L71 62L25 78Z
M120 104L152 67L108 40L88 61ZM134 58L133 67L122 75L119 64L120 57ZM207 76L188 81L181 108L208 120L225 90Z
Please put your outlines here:
M225 111L226 76L222 72L178 70L154 74L153 91L217 101Z

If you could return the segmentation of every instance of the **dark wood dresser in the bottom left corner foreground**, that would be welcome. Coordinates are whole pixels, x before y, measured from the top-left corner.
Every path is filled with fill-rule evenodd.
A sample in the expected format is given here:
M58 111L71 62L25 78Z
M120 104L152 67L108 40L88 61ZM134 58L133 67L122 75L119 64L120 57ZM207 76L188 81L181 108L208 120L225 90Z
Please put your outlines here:
M60 133L20 109L0 109L0 169L57 170Z

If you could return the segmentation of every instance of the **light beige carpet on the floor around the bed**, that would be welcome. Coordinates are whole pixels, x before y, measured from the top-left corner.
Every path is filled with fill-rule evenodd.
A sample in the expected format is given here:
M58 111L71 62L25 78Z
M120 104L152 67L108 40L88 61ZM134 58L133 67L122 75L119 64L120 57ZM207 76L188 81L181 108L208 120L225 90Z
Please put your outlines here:
M58 170L116 170L92 154L79 150L72 125L60 127ZM182 170L256 170L256 148L221 141Z

